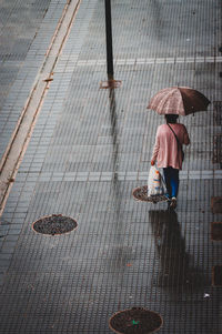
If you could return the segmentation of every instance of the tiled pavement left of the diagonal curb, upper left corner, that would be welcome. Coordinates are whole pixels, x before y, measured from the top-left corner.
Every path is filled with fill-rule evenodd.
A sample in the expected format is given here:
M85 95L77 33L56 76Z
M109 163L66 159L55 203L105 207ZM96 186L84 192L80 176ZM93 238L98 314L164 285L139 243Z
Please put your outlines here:
M65 0L3 0L0 6L0 159L27 103Z

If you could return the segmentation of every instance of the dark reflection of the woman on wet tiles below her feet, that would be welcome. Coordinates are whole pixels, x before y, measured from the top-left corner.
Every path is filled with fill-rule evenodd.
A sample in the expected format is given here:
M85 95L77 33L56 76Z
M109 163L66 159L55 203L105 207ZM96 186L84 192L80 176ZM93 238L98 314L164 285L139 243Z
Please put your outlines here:
M191 264L191 256L185 250L185 239L181 233L174 210L150 211L149 217L154 233L155 247L160 259L158 285L170 287L171 292L203 289L205 276Z

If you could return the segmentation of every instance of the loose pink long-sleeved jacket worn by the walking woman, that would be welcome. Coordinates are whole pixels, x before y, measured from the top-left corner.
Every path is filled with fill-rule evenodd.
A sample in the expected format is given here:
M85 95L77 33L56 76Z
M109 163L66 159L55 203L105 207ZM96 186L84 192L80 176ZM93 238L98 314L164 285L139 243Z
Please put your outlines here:
M181 144L190 144L189 134L183 124L170 123L170 126L175 132ZM182 152L178 149L175 136L168 124L158 126L151 160L157 160L159 168L172 166L173 169L182 170Z

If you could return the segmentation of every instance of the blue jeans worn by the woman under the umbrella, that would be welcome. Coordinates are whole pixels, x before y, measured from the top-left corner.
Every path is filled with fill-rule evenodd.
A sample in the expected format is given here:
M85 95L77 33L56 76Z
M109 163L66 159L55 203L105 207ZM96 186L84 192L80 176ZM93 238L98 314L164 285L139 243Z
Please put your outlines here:
M176 198L179 190L179 170L173 169L171 166L165 168L163 169L163 174L169 198Z

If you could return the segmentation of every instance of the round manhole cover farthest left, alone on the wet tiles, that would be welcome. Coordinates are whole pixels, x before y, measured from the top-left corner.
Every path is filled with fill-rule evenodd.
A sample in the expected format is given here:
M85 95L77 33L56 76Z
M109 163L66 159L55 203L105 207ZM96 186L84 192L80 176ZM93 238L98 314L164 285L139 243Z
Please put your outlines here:
M57 235L74 230L77 222L69 216L52 214L41 217L32 224L32 227L38 233Z

